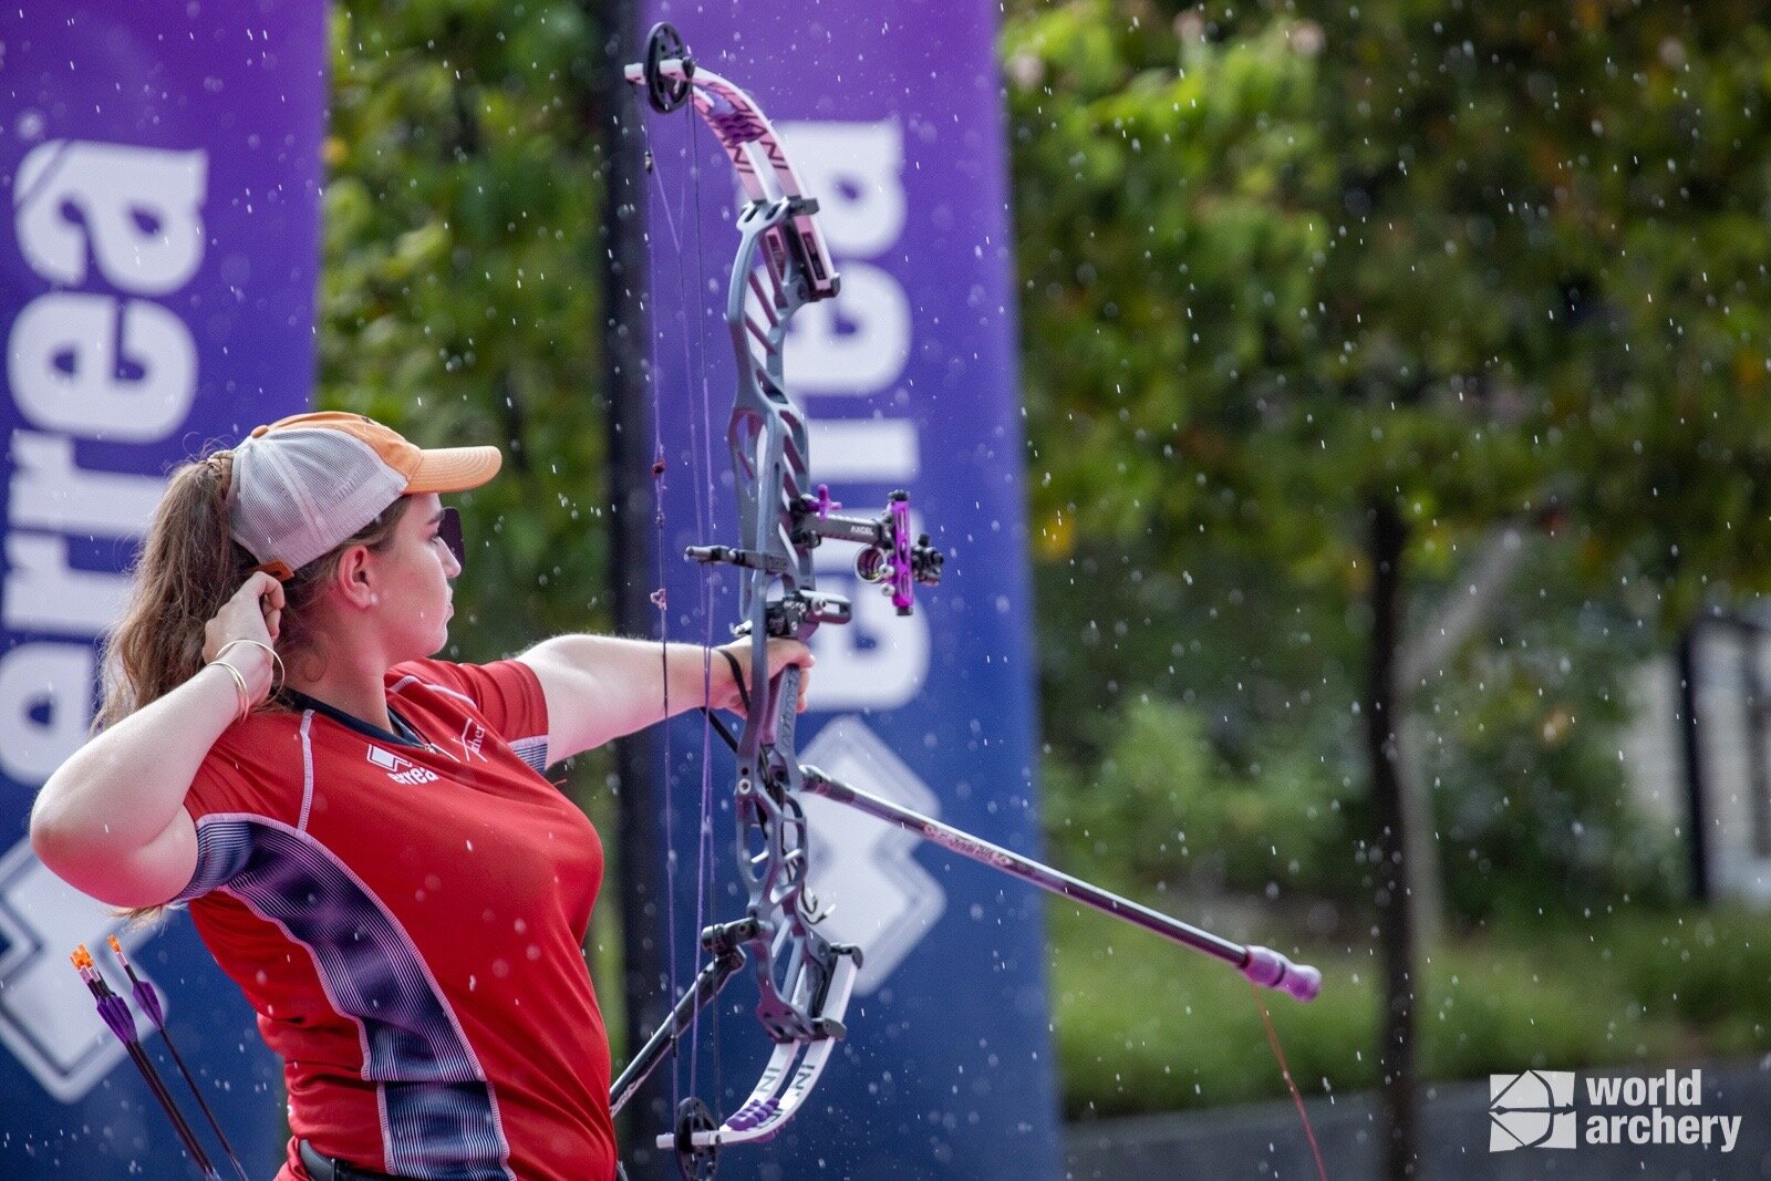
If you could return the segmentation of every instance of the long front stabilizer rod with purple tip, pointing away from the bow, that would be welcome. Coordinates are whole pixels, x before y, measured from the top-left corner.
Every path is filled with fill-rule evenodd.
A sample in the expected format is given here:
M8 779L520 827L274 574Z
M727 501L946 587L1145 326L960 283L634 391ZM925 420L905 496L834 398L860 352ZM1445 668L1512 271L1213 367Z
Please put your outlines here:
M1314 1000L1316 993L1321 992L1321 972L1307 963L1293 963L1272 947L1236 944L1220 935L1213 935L1211 931L1181 922L1179 919L1165 915L1160 910L1151 910L1149 907L1135 903L1128 898L1119 898L1112 891L1103 891L1102 887L1091 885L1082 878L1075 878L1063 869L1040 864L1038 861L1022 857L1020 853L1009 852L1001 845L992 845L990 841L955 829L953 825L946 825L932 816L924 816L910 811L909 807L901 807L891 800L862 791L861 788L854 788L839 779L832 779L816 767L800 767L799 774L800 790L820 795L847 807L854 807L855 811L873 816L875 820L884 820L886 823L896 825L905 832L914 832L924 841L932 841L947 852L969 857L979 864L990 866L992 869L1001 869L1009 876L1020 878L1022 882L1038 885L1041 891L1082 903L1084 907L1091 907L1102 914L1110 914L1116 919L1125 919L1133 926L1141 926L1146 931L1153 931L1171 942L1181 944L1183 947L1192 947L1194 951L1204 953L1215 960L1222 960L1263 988L1275 988L1298 1000Z

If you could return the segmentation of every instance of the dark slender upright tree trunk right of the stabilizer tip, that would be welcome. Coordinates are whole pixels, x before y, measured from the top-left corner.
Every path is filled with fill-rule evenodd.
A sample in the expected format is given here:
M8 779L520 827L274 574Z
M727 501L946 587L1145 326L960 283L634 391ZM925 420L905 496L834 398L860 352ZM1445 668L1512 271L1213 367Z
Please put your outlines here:
M1383 1098L1383 1176L1415 1174L1415 969L1408 892L1408 820L1397 776L1397 648L1403 616L1403 549L1408 526L1396 505L1371 503L1371 648L1365 682L1365 751L1378 825L1378 940L1383 956L1383 1015L1378 1073Z

